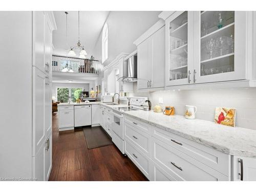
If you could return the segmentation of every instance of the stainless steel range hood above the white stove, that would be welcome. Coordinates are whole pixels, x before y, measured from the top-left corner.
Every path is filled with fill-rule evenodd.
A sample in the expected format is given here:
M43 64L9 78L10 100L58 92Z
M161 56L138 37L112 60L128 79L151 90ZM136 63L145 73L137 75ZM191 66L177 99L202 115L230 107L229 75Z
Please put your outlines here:
M137 55L131 56L125 61L123 82L136 82L137 81ZM126 71L127 70L127 71ZM126 75L126 76L125 76Z

